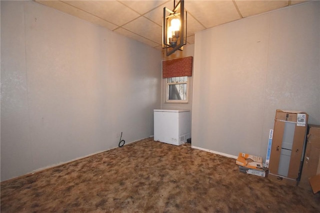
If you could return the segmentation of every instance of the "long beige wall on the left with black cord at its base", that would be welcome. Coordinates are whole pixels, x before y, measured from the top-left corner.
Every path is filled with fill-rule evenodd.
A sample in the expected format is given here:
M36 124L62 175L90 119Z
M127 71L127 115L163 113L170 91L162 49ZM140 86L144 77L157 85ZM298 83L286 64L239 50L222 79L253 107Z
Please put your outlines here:
M1 1L1 181L153 135L161 51Z

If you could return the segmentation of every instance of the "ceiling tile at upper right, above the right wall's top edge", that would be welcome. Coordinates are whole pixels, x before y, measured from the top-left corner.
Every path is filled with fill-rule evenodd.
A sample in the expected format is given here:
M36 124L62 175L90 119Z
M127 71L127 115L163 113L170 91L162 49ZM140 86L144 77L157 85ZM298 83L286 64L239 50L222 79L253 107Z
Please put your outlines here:
M256 15L288 5L288 0L235 0L242 17Z

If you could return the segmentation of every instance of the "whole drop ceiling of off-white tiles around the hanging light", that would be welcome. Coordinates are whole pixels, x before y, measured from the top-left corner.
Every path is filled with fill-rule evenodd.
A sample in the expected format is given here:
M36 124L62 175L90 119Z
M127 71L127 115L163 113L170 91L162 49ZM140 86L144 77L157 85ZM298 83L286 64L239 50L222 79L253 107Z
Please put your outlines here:
M61 12L161 49L163 7L173 0L35 0ZM304 0L185 0L187 43L194 33ZM177 1L175 2L177 3Z

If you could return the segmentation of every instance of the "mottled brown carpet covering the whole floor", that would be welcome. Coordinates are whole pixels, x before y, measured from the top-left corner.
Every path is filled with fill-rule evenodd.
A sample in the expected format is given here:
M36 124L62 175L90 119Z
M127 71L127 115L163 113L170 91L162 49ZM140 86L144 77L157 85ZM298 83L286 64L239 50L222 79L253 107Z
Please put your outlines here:
M2 182L1 213L22 212L316 213L320 194L148 138Z

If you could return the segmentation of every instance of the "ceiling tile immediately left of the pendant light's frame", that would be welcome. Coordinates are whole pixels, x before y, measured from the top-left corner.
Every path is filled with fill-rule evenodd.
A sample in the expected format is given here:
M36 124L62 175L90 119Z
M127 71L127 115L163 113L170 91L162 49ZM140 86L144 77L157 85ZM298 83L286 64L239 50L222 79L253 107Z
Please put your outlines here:
M162 27L149 19L141 16L122 26L123 28L153 40L157 44L162 43Z

